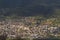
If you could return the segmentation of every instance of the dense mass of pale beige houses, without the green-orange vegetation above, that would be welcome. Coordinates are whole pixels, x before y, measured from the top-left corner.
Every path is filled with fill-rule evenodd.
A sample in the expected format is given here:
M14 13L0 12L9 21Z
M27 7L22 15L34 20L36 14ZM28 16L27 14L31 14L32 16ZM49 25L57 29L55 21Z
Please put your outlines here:
M30 21L29 19L0 21L0 35L5 34L8 38L48 38L49 35L60 36L60 27L41 24L30 26L25 24L25 22L28 24Z

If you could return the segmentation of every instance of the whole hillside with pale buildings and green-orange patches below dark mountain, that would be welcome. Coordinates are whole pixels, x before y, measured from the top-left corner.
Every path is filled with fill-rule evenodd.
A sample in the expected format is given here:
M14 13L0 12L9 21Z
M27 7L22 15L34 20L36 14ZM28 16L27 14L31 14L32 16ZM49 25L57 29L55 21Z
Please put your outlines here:
M7 17L0 20L0 39L2 37L6 40L60 39L60 19L39 16Z

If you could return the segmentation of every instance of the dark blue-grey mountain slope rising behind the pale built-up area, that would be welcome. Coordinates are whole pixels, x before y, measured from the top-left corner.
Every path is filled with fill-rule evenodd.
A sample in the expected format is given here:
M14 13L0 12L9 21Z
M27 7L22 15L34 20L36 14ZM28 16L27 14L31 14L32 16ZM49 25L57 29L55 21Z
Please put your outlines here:
M54 13L55 8L60 8L60 0L0 0L0 9L8 11L4 13L1 10L0 14L4 15L49 16Z

